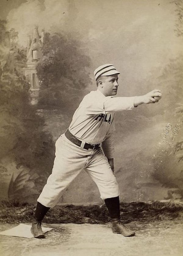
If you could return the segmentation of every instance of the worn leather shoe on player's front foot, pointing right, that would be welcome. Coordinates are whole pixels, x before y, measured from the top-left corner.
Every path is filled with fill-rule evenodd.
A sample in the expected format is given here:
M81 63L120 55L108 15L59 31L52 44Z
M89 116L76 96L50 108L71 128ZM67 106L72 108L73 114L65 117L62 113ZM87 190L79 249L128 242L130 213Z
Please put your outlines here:
M122 225L119 219L112 219L112 231L123 236L135 236L135 232Z

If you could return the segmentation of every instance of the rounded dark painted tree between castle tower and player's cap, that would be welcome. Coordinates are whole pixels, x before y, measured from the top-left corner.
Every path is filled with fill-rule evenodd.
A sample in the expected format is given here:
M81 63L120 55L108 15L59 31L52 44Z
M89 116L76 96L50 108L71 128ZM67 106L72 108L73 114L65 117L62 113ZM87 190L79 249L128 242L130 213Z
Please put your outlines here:
M73 35L45 33L42 53L37 67L41 81L38 107L74 111L91 83L84 46Z

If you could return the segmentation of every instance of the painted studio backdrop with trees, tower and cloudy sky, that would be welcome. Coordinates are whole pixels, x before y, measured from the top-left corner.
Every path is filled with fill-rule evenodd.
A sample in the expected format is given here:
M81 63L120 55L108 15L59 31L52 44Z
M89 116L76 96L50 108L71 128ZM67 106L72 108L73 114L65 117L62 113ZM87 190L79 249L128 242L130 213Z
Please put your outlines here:
M93 70L113 63L117 96L160 89L156 104L116 114L115 173L123 202L183 196L183 1L1 0L1 200L35 203L55 141ZM60 203L101 203L81 171Z

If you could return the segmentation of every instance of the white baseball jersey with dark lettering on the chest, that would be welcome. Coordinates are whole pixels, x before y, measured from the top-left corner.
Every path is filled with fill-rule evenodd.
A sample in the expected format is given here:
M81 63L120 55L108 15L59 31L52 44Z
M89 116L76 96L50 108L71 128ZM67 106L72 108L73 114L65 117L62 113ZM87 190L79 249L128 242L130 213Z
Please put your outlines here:
M135 97L106 97L98 89L81 101L69 126L77 138L90 144L102 143L107 158L114 158L114 112L134 108Z

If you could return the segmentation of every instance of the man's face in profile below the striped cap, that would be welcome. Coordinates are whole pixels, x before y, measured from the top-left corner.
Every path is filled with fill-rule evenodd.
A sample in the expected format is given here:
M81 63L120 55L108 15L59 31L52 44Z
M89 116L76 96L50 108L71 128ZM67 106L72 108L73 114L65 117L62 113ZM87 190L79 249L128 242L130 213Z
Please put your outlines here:
M102 93L105 96L113 96L117 94L118 75L102 76L99 86L102 87Z

